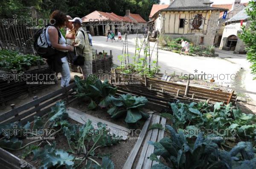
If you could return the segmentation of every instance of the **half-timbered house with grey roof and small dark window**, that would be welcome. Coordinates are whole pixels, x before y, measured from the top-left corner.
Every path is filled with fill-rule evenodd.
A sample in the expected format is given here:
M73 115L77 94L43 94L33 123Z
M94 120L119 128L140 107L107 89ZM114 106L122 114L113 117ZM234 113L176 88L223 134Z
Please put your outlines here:
M201 45L213 45L218 18L224 8L211 7L209 0L170 0L168 8L157 11L155 30L172 38L186 37Z

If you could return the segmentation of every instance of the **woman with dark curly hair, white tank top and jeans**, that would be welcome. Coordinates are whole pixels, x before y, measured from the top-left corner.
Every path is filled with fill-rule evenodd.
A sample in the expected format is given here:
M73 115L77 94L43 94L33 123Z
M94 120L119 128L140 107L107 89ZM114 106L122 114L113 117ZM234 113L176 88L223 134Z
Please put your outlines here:
M49 65L56 73L61 73L61 87L69 85L70 69L67 61L67 51L74 51L73 46L66 44L66 39L60 32L67 22L67 16L59 11L53 11L50 16L52 26L47 26L46 39L48 44L56 50L56 54L47 59Z

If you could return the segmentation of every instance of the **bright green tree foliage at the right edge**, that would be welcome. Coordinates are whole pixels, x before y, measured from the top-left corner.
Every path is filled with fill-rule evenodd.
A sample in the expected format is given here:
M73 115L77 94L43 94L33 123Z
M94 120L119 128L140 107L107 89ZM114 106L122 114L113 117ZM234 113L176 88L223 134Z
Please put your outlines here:
M249 28L243 26L243 33L239 37L247 46L247 59L252 64L250 68L252 70L251 73L254 75L253 79L256 79L256 0L250 1L248 6L246 13L249 16L250 26Z

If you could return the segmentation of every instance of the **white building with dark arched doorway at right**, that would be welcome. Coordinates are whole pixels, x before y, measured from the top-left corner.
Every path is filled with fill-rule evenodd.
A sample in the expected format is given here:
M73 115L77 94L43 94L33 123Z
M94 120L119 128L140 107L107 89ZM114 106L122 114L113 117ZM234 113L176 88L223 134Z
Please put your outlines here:
M234 54L246 53L244 42L238 37L238 34L242 32L241 25L245 25L245 27L250 25L248 18L246 8L244 8L242 11L231 17L230 22L225 23L220 49L234 51Z

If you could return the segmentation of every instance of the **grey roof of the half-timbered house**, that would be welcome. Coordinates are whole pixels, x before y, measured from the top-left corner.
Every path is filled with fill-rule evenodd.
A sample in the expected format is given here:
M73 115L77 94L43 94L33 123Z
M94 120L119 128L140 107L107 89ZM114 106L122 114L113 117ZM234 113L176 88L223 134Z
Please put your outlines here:
M215 8L203 4L203 0L175 0L168 8L162 11L195 11L195 10L221 10L224 8Z

